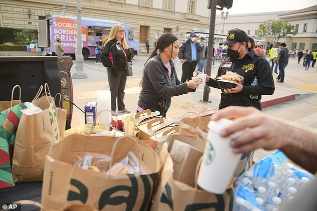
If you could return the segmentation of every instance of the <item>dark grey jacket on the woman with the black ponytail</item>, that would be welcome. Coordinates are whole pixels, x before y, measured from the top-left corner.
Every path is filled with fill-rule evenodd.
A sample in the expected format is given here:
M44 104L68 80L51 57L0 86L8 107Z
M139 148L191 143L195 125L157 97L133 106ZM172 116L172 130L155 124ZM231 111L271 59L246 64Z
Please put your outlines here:
M172 96L195 91L195 89L188 88L186 83L180 83L174 63L171 60L169 63L171 79L168 77L168 69L164 66L159 54L146 62L143 69L142 90L137 102L142 109L150 109L152 112L159 111L161 116L166 116Z

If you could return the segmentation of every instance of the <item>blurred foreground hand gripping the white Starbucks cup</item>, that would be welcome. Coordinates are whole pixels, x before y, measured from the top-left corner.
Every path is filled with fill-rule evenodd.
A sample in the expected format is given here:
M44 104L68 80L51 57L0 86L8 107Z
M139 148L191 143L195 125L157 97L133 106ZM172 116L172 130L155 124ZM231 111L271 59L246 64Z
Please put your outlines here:
M232 124L220 131L222 137L231 136L233 152L249 152L258 148L280 149L286 145L287 130L284 124L268 118L256 108L229 106L211 116L216 121L221 118L236 118Z

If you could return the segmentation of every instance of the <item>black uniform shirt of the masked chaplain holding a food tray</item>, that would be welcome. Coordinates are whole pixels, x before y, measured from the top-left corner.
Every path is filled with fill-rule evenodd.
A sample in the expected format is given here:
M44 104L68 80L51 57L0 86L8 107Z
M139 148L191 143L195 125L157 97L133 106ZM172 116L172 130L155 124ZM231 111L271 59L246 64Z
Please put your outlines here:
M218 68L216 77L225 74L226 71L236 72L243 76L243 88L241 92L235 94L225 94L222 90L219 109L234 105L253 106L261 110L261 95L271 95L275 90L272 73L266 59L261 55L255 54L254 50L250 49L242 59L235 59L230 67L223 67L225 63L226 61L224 60ZM254 76L258 80L257 86L251 86ZM220 89L216 79L210 78L207 85ZM250 95L258 95L258 98L252 100Z

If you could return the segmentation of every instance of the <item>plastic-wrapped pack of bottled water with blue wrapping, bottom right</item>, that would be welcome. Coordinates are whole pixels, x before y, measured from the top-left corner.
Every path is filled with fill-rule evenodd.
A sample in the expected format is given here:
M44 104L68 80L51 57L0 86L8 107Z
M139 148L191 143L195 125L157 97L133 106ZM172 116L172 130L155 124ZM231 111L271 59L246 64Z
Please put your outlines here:
M287 163L277 150L236 179L234 211L278 211L313 179L309 172Z

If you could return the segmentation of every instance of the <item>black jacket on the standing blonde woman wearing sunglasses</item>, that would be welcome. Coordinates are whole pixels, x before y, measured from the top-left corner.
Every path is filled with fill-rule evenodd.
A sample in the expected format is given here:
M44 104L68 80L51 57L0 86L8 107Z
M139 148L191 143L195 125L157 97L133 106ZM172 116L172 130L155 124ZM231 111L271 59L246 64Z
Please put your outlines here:
M131 62L132 51L127 49L125 53L127 61ZM119 58L117 58L116 55L119 55ZM116 71L125 71L125 56L116 39L110 40L105 44L100 55L100 60L103 66L111 69L111 75L113 77L116 77ZM118 64L118 62L120 62L120 64Z

